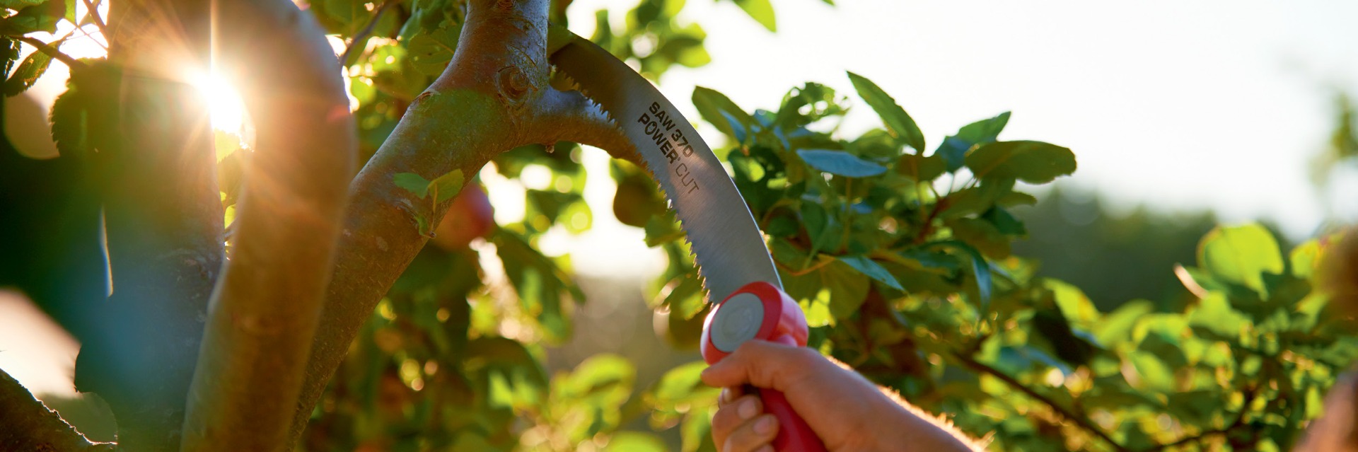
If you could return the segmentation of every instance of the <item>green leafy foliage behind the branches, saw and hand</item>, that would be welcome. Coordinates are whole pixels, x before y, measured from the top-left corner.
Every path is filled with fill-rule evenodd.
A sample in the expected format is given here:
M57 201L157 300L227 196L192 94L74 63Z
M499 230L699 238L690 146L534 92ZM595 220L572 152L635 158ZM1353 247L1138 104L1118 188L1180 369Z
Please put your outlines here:
M767 0L735 3L777 29ZM5 23L56 18L57 4L5 3ZM569 5L553 3L555 23ZM703 65L705 33L676 19L683 7L600 10L591 38L652 80ZM348 46L367 159L451 60L466 4L325 0L310 11ZM7 68L5 94L31 86L41 60ZM889 94L849 79L853 94L807 83L773 111L708 88L691 102L725 138L716 151L807 312L811 345L995 449L1285 449L1358 357L1351 320L1313 286L1328 236L1293 246L1264 225L1217 227L1210 213L1109 212L1093 193L1039 189L1071 174L1076 156L1002 141L1009 113L980 111L990 117L930 147ZM843 136L849 109L876 111L881 126ZM1340 99L1317 171L1353 162L1351 111ZM0 236L38 239L0 242L0 285L62 324L90 322L64 303L106 290L98 206L68 156L30 159L12 143L7 133L0 151ZM247 143L219 136L228 223ZM683 233L625 162L608 174L612 212L585 204L583 152L524 147L488 166L509 179L547 171L524 189L520 221L496 224L481 178L467 183L352 345L304 449L713 449L717 390L698 381L695 352L708 307ZM539 251L547 233L580 233L596 214L644 229L668 257L644 290L576 276L569 255ZM53 406L111 436L96 400Z

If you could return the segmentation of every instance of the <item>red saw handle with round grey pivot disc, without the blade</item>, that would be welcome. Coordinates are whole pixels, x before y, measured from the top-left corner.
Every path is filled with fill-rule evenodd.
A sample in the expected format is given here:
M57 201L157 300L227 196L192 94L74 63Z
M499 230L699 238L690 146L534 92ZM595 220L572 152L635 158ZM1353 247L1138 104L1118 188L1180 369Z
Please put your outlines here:
M717 364L740 343L763 339L793 346L807 346L807 318L801 307L769 282L751 282L728 296L702 324L702 358ZM778 418L778 436L773 447L779 452L823 452L826 445L811 430L782 392L759 388L765 411Z

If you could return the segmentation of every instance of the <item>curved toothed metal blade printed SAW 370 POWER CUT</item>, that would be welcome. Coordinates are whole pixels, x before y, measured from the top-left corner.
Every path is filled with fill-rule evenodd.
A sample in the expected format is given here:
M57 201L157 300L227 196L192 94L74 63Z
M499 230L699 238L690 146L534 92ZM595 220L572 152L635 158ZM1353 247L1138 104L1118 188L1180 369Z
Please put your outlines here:
M551 56L631 140L660 183L693 247L708 300L765 281L782 288L763 235L736 185L689 124L645 77L588 39L574 37Z

